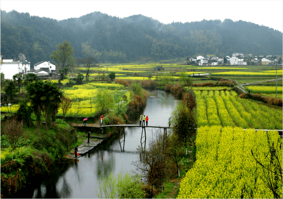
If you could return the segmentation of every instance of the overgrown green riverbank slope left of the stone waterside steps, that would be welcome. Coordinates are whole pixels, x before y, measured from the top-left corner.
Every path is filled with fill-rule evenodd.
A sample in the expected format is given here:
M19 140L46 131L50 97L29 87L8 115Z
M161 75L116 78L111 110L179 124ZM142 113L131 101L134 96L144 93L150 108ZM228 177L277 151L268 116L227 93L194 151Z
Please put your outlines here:
M18 146L12 150L7 136L1 134L1 198L13 197L29 178L48 174L53 162L80 144L73 127L57 120L57 127L45 131L23 127ZM6 121L1 121L1 129ZM2 131L2 130L1 130Z

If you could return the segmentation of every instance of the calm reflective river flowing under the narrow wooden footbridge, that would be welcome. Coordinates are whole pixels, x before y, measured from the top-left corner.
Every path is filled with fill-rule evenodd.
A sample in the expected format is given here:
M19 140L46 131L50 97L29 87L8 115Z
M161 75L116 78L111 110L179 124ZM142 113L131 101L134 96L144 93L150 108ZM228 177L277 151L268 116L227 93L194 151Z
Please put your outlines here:
M150 91L142 114L149 117L149 126L168 126L168 118L177 103L178 99L171 93L160 90ZM138 116L131 120L133 121L131 124L139 124ZM78 158L78 162L70 160L54 164L50 176L28 184L18 192L17 197L98 198L95 188L100 176L104 178L111 172L117 174L122 170L135 169L131 162L139 158L137 147L140 145L141 132L140 127L126 127L125 141L121 145L119 137L113 137L97 149ZM146 128L146 146L153 132L155 132L154 128ZM121 138L122 141L124 137Z

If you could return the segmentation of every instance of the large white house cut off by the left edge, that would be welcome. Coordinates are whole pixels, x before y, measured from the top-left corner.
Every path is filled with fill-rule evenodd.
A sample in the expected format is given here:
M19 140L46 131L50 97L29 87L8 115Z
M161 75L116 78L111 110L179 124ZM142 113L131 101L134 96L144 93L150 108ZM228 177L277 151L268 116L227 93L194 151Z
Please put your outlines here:
M27 60L2 59L1 56L0 72L4 74L4 79L13 79L13 75L18 73L24 77L29 70L30 62Z

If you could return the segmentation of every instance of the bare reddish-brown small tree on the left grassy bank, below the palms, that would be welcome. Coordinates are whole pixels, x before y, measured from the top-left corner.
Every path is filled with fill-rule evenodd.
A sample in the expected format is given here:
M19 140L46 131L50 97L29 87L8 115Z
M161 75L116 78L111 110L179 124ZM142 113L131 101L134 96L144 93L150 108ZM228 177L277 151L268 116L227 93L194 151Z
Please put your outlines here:
M3 132L11 144L12 150L17 147L17 143L23 134L23 122L18 122L16 118L8 119L3 127Z

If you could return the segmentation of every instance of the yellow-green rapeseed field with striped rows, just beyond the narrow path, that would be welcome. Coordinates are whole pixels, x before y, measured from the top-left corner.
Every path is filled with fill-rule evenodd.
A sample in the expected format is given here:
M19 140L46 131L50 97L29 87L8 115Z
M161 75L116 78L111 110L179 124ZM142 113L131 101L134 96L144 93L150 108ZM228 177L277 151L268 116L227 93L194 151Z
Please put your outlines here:
M282 110L237 97L234 91L194 91L198 127L282 129Z

